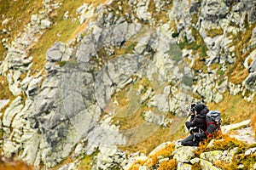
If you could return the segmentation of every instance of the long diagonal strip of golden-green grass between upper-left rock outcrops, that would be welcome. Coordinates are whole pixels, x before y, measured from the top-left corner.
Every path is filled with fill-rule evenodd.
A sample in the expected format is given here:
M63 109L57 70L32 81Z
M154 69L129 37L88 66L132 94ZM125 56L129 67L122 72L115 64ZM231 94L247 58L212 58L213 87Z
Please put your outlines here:
M73 36L73 32L76 31L79 26L79 20L74 21L71 17L64 20L63 15L68 11L69 15L74 17L76 9L79 8L84 1L71 0L67 2L61 1L59 3L63 3L62 6L55 9L56 11L49 15L53 25L44 33L35 47L30 51L30 55L33 57L32 73L44 69L47 49L50 48L54 42L67 42L67 40L70 40Z

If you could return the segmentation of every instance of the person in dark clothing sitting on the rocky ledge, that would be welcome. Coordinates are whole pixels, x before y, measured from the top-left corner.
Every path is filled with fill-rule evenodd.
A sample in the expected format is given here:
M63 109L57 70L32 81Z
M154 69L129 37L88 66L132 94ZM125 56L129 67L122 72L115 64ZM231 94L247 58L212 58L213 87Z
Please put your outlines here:
M181 141L183 146L198 146L202 140L207 139L204 133L207 130L207 112L209 112L207 105L192 104L190 106L190 121L185 123L190 134Z

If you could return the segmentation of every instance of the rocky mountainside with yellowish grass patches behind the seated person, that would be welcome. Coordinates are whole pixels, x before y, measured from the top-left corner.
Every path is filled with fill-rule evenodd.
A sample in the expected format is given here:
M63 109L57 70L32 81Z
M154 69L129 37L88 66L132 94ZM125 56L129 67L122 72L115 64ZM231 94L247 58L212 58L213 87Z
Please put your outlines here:
M131 152L148 154L186 134L191 102L221 111L224 125L250 119L255 7L253 0L44 0L14 38L4 36L13 33L4 17L3 156L44 168L70 159L61 169L130 168Z

